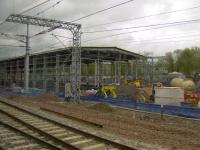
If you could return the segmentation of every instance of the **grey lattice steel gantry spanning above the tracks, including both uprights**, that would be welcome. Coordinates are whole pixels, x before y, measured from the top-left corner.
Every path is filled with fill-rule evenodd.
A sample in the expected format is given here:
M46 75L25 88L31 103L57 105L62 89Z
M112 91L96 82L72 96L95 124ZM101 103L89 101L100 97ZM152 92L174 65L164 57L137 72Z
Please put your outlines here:
M80 99L80 77L81 77L81 25L76 23L70 23L65 21L58 21L54 19L46 19L41 17L26 16L20 14L11 14L7 19L7 22L20 23L27 25L27 38L26 38L26 65L25 67L25 88L28 89L29 83L29 36L28 36L28 27L29 25L49 27L49 30L45 31L50 32L55 29L64 29L71 31L73 35L73 48L72 48L72 62L71 62L71 90L72 90L72 99Z

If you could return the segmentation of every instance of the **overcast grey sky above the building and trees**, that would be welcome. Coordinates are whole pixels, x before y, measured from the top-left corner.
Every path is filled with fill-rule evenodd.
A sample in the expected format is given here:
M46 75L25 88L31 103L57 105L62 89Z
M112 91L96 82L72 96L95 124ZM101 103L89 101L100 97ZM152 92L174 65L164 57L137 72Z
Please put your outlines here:
M11 13L20 13L23 9L44 0L0 0L0 20L4 20ZM26 15L36 15L38 12L49 8L60 0L49 0L46 4L37 7ZM38 15L39 17L72 21L98 10L125 2L126 0L63 0L55 7ZM162 12L180 10L200 6L199 0L135 0L111 10L82 19L76 23L82 25L82 46L117 46L129 51L144 53L149 52L154 56L164 55L166 52L180 48L200 46L200 22L170 26L160 29L146 30L148 28L132 28L112 32L84 33L115 28L129 28L134 26L146 26L169 22L200 19L200 7L176 13L134 19ZM121 20L124 22L117 22ZM117 22L117 23L112 23ZM109 24L108 24L109 23ZM110 24L112 23L112 24ZM107 24L107 25L101 25ZM152 27L151 27L152 28ZM30 27L30 35L42 31L43 27ZM119 36L110 36L118 33L132 32ZM0 33L25 34L26 26L14 23L0 25ZM69 31L54 30L56 35L70 37ZM59 37L58 41L51 33L34 37L30 40L31 52L46 51L49 49L70 46L69 39ZM199 34L199 35L198 35ZM195 36L192 36L195 35ZM98 38L98 40L93 40ZM57 43L54 45L54 43ZM15 40L0 38L0 59L23 55L24 48L3 47L2 45L24 45Z

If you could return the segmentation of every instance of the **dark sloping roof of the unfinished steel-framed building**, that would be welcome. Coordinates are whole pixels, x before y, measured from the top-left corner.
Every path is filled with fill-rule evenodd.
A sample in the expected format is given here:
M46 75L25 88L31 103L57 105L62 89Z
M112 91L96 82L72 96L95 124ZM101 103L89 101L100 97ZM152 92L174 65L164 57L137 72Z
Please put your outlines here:
M60 48L45 52L32 53L30 57L35 56L55 56L55 55L69 55L70 60L72 47ZM0 62L22 59L24 56L19 56L15 58L9 58L6 60L0 60ZM100 59L102 61L128 61L136 59L144 59L145 56L130 52L118 47L81 47L81 58L83 63L92 63L95 59Z

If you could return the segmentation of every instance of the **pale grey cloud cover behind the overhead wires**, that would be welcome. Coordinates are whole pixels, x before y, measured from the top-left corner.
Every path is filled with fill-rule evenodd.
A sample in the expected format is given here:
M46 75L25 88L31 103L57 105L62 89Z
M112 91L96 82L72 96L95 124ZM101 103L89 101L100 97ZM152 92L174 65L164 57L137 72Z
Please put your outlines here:
M31 5L36 0L0 0L0 20L5 19L10 13L19 12L23 8ZM41 10L48 8L58 0L51 0L47 4L34 9L27 13L27 15L35 15ZM40 17L71 21L82 17L84 15L90 14L97 10L104 9L111 5L121 3L122 0L64 0L59 5L50 9L49 11L41 14ZM95 16L83 19L78 21L78 23L82 24L83 30L94 31L94 30L104 30L110 28L120 28L120 27L130 27L137 25L147 25L147 24L155 24L155 23L164 23L171 21L181 21L187 19L198 19L198 12L200 9L173 13L168 15L156 16L146 19L134 20L130 22L117 23L107 26L101 26L96 28L84 29L87 26L102 24L107 22L113 22L122 19L135 18L144 15L155 14L159 12L183 9L187 7L193 7L199 3L198 0L135 0L132 3L120 6L118 8L114 8L112 10L103 12L101 14L97 14ZM14 26L14 27L13 27ZM13 27L13 28L12 28ZM42 27L33 27L31 26L31 35L38 33L41 31ZM103 40L96 40L93 42L83 43L83 45L87 46L95 46L95 45L105 45L105 46L119 46L121 48L125 48L130 51L135 52L153 52L154 55L163 55L167 51L172 51L177 48L184 48L190 46L200 46L198 41L185 41L185 42L173 42L170 43L154 43L154 44L142 44L143 40L152 40L159 39L164 36L172 36L172 35L180 35L180 34L188 34L188 33L199 33L200 26L199 23L193 23L188 25L174 26L165 29L158 29L152 31L138 32L127 34L124 36L116 36L112 38L106 38ZM111 35L121 32L126 32L131 30L124 31L115 31L109 33L95 33L95 34L84 34L82 40L93 39L105 35ZM25 34L26 28L25 25L13 25L10 23L6 23L0 25L0 32L13 32L14 34ZM55 30L54 33L70 36L68 32L62 30ZM64 40L64 38L60 38ZM123 42L130 41L130 42ZM141 44L135 44L133 41L141 41ZM0 43L12 43L10 41L5 41L0 39ZM41 51L47 48L49 45L58 42L55 38L51 37L50 34L37 36L31 40L32 51ZM16 43L13 41L13 43ZM67 42L64 42L67 45ZM19 43L17 43L19 44ZM61 47L62 44L56 45L56 47ZM23 48L11 48L11 47L0 47L0 56L14 56L14 55L22 55L24 54ZM14 53L13 53L14 52ZM1 59L1 58L0 58Z

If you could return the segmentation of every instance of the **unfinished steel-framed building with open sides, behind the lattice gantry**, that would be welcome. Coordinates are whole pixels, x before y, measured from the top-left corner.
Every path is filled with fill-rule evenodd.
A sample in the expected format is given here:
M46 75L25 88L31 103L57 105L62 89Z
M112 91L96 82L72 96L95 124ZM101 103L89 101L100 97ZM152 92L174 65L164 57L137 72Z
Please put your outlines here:
M30 56L30 87L63 93L70 82L71 49L60 49ZM117 47L83 47L81 88L98 87L102 82L142 78L145 57ZM24 87L24 58L0 61L0 86Z

